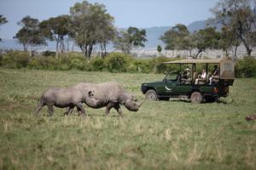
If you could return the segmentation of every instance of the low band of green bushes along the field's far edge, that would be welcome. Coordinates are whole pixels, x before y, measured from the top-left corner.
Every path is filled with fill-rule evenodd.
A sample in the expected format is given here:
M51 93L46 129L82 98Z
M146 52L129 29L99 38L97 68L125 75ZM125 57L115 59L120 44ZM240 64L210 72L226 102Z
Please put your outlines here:
M177 59L177 58L176 58ZM175 60L166 57L138 59L129 54L111 53L105 58L84 59L80 53L61 54L55 59L55 53L43 53L30 57L24 52L10 51L0 55L0 66L10 69L35 69L51 71L109 71L131 73L166 73L179 71L178 65L166 65L163 62ZM248 65L249 63L249 65ZM236 77L256 77L256 59L244 57L236 62Z

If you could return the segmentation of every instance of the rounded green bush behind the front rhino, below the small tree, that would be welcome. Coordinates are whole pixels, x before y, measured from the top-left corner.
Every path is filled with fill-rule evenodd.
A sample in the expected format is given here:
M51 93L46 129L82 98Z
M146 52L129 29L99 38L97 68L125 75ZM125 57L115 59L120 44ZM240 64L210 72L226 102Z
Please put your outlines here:
M110 72L126 72L129 71L131 60L130 55L111 53L106 57L105 66Z

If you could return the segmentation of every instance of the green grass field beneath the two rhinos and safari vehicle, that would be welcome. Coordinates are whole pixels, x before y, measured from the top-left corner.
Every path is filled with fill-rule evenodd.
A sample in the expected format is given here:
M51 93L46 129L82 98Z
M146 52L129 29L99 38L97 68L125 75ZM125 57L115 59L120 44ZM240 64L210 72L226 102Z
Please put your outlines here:
M163 75L0 69L0 169L256 169L256 79L236 79L218 103L146 101L137 112L84 105L33 116L49 87L117 81L139 100L142 82Z

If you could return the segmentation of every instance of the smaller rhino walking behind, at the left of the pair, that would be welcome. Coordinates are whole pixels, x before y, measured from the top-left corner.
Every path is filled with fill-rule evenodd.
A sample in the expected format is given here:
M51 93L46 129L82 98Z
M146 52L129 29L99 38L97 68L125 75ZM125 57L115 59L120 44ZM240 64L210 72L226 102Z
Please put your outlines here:
M89 95L90 94L90 95ZM78 111L81 111L85 115L83 103L87 105L96 105L96 99L92 99L92 92L87 90L81 90L79 88L49 88L44 91L41 96L36 115L41 111L44 105L48 106L49 116L53 115L53 106L60 108L68 107L64 115L68 115L73 111L76 106Z

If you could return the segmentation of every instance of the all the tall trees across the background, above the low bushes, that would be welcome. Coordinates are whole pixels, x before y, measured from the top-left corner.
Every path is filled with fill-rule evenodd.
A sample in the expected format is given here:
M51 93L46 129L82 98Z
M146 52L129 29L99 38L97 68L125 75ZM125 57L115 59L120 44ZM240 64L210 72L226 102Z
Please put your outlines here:
M195 59L206 49L222 49L226 57L236 60L240 45L247 49L247 55L250 56L256 47L255 8L255 0L220 0L211 9L213 18L205 29L189 32L186 26L177 24L166 31L160 40L165 43L166 50L188 50L189 57ZM100 55L105 56L109 42L124 54L131 54L133 48L144 47L144 42L147 41L145 30L136 27L118 30L113 25L113 20L103 4L83 1L75 3L69 14L41 22L30 16L24 17L18 23L21 28L15 38L23 45L24 51L32 51L37 46L44 45L47 40L55 41L56 59L59 54L69 52L70 40L89 59L93 50L100 51ZM0 15L0 26L7 22ZM214 26L218 26L218 29ZM161 53L162 47L158 46L156 49ZM196 53L192 54L192 51Z

